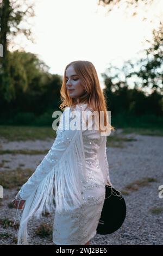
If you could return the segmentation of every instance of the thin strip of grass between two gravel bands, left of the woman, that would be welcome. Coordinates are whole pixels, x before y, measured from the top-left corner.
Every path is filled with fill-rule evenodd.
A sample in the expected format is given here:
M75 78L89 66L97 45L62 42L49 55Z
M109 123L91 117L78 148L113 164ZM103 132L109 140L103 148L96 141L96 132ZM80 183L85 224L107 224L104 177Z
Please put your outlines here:
M23 149L15 149L15 150L0 150L0 155L3 154L23 154L23 155L44 155L47 154L48 150L23 150Z

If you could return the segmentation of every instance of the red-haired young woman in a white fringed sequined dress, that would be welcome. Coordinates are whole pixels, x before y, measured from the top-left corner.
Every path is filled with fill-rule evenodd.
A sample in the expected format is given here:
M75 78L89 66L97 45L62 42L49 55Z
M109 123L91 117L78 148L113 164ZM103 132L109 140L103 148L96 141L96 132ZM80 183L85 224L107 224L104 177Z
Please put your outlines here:
M66 66L61 100L64 112L57 137L13 201L16 209L23 209L18 245L28 244L27 223L44 211L55 211L54 245L89 245L101 217L105 185L112 185L106 131L114 127L109 124L105 97L91 62L78 60ZM101 129L101 112L105 129ZM71 129L74 113L79 126ZM93 113L99 119L96 114L93 119Z

